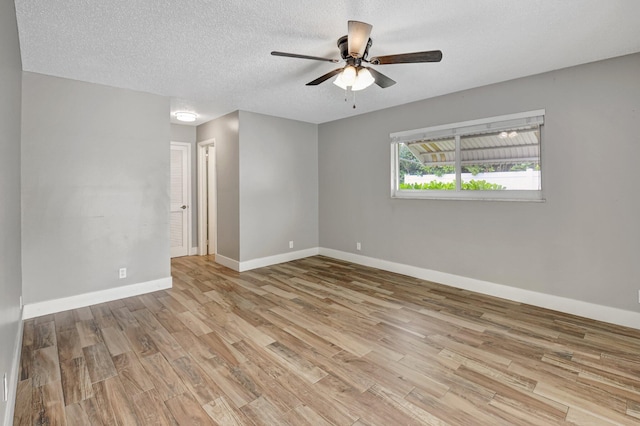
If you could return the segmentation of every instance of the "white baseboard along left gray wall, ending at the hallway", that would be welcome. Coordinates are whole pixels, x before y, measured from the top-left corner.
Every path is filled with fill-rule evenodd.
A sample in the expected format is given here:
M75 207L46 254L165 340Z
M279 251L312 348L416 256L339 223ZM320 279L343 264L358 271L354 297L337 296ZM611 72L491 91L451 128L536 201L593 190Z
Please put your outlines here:
M91 293L78 294L76 296L63 297L44 302L28 303L24 305L22 318L35 318L56 312L68 311L69 309L77 309L85 306L97 305L99 303L111 302L112 300L123 299L125 297L138 296L140 294L164 290L171 288L172 285L173 278L166 277L158 280L125 285L122 287L94 291Z

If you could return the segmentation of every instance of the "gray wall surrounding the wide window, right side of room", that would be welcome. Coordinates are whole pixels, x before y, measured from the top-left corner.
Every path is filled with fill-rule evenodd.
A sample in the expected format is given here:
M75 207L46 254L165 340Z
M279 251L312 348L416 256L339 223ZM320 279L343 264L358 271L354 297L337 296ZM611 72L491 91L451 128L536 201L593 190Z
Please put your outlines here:
M638 311L639 75L635 54L321 124L320 246ZM389 133L540 108L545 203L390 198Z

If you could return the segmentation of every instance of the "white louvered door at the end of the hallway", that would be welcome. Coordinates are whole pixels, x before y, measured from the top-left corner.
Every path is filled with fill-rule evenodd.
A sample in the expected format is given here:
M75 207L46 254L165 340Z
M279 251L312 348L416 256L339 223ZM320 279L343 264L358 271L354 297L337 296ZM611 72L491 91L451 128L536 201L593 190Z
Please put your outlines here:
M171 257L189 254L190 157L189 144L171 142Z

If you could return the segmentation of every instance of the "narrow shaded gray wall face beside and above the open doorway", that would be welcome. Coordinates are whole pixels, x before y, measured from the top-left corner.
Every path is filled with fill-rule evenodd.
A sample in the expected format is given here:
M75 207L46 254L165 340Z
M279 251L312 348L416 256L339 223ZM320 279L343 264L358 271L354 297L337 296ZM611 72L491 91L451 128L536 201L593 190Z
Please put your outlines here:
M197 141L216 140L218 246L217 253L240 260L239 112L201 124Z

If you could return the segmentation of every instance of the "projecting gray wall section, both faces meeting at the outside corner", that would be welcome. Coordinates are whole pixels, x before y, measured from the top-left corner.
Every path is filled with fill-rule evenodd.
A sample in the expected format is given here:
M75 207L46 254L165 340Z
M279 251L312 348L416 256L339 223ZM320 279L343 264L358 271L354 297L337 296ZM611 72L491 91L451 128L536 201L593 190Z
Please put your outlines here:
M198 142L211 138L218 253L247 261L317 247L317 125L236 111L198 126Z

